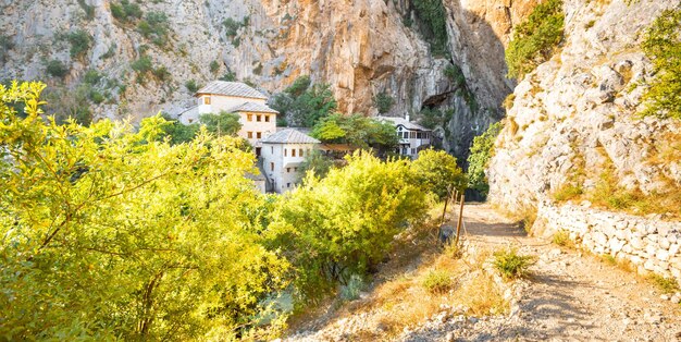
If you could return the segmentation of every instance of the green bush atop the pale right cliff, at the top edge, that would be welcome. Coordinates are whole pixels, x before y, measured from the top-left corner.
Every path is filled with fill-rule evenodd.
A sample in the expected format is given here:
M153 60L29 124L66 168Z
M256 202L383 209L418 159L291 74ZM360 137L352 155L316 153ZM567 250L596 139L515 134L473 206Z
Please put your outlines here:
M547 61L562 40L564 27L562 0L537 4L530 16L516 27L506 49L508 77L521 78Z

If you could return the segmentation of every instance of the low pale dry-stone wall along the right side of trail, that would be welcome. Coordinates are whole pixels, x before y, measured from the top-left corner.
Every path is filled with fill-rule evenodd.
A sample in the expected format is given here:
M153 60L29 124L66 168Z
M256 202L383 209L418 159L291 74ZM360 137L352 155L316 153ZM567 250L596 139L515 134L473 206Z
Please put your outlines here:
M595 254L629 260L640 273L671 276L681 284L681 222L575 205L541 204L533 233L547 237L560 230Z

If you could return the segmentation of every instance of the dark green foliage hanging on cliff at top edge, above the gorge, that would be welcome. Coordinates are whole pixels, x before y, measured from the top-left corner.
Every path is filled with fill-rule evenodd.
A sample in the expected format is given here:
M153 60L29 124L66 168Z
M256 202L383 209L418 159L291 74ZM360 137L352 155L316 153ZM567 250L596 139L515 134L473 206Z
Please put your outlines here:
M449 56L449 37L447 35L447 12L442 0L411 1L420 27L431 45L433 54Z

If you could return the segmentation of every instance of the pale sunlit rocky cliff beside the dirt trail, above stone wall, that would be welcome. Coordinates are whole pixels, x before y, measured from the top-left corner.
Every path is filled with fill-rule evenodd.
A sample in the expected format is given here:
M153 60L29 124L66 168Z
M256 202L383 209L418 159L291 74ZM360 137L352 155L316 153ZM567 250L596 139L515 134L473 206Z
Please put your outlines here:
M643 33L674 5L565 1L560 51L515 88L487 174L493 201L518 211L554 201L566 184L594 192L604 179L649 196L678 192L681 125L640 118L644 89L632 90L652 77Z

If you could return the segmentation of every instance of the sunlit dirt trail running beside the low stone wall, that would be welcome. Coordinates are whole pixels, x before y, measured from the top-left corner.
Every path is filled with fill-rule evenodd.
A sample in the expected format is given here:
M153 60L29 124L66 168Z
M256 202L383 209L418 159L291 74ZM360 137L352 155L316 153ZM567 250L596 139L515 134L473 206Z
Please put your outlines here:
M528 236L487 205L467 205L463 216L462 237L470 246L515 246L519 254L535 256L531 277L518 281L509 315L424 323L397 340L681 341L681 306L663 301L647 280L578 249ZM301 340L355 340L334 329L337 325L330 322Z

